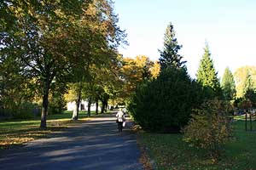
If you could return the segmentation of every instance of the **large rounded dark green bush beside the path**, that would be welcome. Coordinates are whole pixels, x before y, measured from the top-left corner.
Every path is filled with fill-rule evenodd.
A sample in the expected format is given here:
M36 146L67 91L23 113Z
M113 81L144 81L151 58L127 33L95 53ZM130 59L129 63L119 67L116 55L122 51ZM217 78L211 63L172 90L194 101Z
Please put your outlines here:
M199 91L185 69L168 68L157 79L137 87L128 109L144 130L177 133L200 103Z

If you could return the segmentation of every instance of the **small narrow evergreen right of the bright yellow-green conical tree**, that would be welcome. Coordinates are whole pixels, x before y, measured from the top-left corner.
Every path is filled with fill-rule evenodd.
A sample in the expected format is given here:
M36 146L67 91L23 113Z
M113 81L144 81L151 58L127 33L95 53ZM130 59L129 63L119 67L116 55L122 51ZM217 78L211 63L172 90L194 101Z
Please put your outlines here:
M224 99L231 100L236 97L236 84L232 72L227 67L221 82Z

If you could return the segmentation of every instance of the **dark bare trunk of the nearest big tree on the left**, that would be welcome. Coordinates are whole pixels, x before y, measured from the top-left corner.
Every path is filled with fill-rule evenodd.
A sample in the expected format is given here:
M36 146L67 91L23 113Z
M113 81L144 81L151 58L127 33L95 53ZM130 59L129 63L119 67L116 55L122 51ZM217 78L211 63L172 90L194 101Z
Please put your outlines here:
M46 117L48 114L48 98L49 98L49 79L46 78L44 82L44 92L43 92L43 105L42 105L42 114L41 114L41 128L46 128Z

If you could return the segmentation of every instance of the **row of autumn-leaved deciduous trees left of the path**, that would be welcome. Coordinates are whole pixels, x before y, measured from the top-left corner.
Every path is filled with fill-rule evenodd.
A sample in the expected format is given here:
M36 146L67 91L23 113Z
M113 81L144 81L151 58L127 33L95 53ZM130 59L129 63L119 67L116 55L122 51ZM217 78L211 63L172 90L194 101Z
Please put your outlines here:
M36 101L46 127L49 106L58 111L70 89L77 105L82 89L107 105L122 65L117 48L126 43L112 1L6 0L0 9L2 114L28 112Z

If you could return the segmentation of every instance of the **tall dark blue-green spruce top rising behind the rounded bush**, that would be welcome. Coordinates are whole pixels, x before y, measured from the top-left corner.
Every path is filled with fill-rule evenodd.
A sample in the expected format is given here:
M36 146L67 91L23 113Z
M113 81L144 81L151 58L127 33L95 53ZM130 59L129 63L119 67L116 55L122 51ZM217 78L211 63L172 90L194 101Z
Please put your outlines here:
M160 51L161 71L166 69L166 67L183 67L183 64L186 63L186 61L182 61L183 57L178 54L178 50L180 48L182 48L182 45L177 43L175 31L173 29L172 23L170 23L166 28L163 51Z

